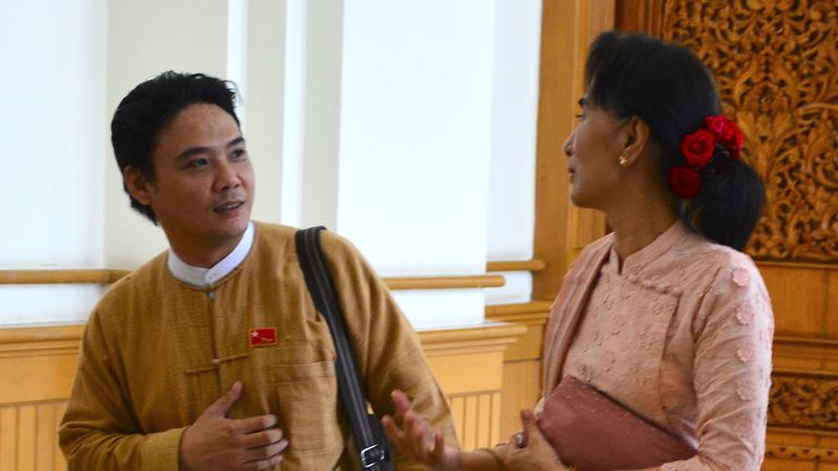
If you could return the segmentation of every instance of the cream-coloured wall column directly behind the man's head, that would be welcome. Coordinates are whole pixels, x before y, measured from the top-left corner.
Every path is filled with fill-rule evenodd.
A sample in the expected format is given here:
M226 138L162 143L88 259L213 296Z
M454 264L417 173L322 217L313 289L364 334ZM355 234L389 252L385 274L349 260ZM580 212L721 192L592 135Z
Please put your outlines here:
M226 0L111 0L108 8L108 122L122 97L163 71L227 75ZM129 209L110 146L105 158L105 266L136 268L166 249L166 238Z

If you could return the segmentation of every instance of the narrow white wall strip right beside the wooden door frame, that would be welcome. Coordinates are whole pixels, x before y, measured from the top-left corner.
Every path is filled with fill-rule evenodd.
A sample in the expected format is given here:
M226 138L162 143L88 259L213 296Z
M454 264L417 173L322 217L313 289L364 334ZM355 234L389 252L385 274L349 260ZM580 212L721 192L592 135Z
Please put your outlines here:
M499 1L495 25L488 255L523 261L535 230L541 0ZM502 275L506 285L487 290L487 303L529 301L528 271Z

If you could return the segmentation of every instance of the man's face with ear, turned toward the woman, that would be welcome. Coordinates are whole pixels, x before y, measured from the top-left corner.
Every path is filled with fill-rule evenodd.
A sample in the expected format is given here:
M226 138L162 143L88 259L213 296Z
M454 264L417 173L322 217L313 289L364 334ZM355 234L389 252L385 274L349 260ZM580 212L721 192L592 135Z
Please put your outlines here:
M154 209L184 262L211 266L241 240L253 206L253 168L241 130L216 105L190 105L158 136L155 179L130 168L134 197Z

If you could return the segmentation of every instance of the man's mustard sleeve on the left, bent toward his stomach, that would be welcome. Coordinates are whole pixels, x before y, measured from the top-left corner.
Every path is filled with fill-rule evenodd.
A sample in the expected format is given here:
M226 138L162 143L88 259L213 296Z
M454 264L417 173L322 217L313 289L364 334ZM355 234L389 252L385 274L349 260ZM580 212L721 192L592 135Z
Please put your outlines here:
M94 312L85 328L75 383L58 432L68 469L178 471L178 448L184 428L141 434L115 360Z

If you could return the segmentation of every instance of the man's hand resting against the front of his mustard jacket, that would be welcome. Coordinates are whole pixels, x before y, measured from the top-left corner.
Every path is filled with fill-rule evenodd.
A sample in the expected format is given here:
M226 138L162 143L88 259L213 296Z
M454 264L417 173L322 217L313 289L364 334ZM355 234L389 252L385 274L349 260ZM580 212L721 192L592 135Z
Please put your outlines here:
M288 440L276 427L276 415L227 419L240 396L237 382L187 428L180 440L181 470L265 470L279 464Z

